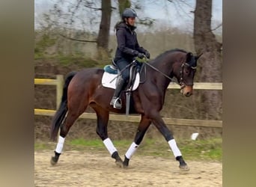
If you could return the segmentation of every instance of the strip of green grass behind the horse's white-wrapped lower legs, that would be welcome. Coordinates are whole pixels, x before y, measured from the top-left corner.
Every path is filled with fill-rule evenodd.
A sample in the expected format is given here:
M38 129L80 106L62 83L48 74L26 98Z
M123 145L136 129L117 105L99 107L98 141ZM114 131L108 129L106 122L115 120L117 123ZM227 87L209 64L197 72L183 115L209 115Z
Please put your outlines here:
M115 147L118 148L119 153L124 154L132 140L113 141ZM177 144L185 159L189 160L213 160L222 161L222 139L207 139L207 140L177 140ZM46 143L36 141L34 150L54 150L55 143ZM97 152L104 152L106 147L100 139L85 140L82 138L67 140L65 142L64 150L90 150ZM142 141L140 147L135 153L137 156L158 156L162 158L171 158L173 154L166 141L162 139L147 139Z

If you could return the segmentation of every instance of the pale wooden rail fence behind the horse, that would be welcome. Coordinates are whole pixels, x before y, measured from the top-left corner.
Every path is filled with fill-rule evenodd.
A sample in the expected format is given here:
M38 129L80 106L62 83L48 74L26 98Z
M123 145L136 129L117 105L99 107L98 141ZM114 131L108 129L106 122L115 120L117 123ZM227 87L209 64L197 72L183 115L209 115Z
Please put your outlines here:
M34 85L55 85L56 86L56 106L61 102L62 88L64 84L64 76L57 75L56 79L34 79ZM168 89L180 89L180 85L171 82L168 85ZM195 82L193 89L198 90L222 90L222 83L211 83L211 82ZM55 110L39 109L34 108L34 114L53 116ZM94 113L83 113L80 118L86 119L97 119ZM109 120L118 120L125 122L139 122L140 116L138 115L126 115L122 114L110 114ZM163 117L166 124L177 125L177 126L205 126L205 127L217 127L222 128L222 120L190 120L190 119L178 119Z

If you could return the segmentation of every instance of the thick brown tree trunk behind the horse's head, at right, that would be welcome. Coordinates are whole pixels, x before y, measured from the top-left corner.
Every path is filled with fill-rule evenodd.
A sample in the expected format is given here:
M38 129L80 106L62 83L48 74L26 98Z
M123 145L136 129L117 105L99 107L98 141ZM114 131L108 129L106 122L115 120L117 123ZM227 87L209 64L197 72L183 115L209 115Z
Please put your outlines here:
M197 0L194 19L195 51L204 55L199 58L200 82L222 82L222 44L211 31L212 0ZM222 116L221 91L203 91L202 103L208 119Z

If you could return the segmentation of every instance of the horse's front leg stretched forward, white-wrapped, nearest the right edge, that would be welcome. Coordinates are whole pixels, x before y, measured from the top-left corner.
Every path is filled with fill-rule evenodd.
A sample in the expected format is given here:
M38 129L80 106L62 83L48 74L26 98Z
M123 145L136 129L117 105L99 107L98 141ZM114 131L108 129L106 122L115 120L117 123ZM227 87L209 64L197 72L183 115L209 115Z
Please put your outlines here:
M175 159L180 162L179 168L182 171L189 171L189 167L186 165L186 162L184 161L183 156L180 153L180 149L177 147L176 141L174 140L171 131L165 125L165 122L162 120L160 114L157 112L153 114L150 118L152 119L153 124L156 126L159 132L161 132L161 134L165 137L165 140L168 142L172 152L174 153Z

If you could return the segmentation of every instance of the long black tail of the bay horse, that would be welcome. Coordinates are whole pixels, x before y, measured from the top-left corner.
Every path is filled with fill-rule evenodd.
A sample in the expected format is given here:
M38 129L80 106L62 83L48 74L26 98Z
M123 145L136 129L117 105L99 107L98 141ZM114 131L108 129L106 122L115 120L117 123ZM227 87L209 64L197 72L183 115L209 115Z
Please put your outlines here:
M63 122L67 114L67 88L68 88L68 85L70 85L71 79L73 79L73 76L75 75L76 75L76 72L70 72L67 74L67 77L65 79L63 93L61 97L61 104L58 110L56 111L55 116L52 119L51 132L50 132L50 138L52 141L55 141L58 135L58 129L60 128L61 123Z

